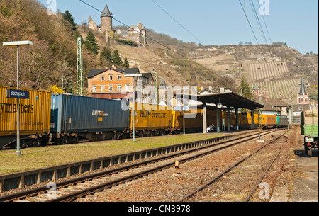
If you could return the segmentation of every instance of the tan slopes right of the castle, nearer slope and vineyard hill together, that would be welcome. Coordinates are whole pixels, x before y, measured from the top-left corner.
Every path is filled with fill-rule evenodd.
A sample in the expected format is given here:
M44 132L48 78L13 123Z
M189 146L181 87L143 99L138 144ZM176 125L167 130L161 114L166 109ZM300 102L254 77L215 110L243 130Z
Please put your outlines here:
M146 48L116 44L112 48L129 59L130 67L140 67L142 72L157 72L159 81L164 78L168 85L213 86L215 91L226 87L239 93L240 79L244 76L251 89L256 85L269 91L269 97L291 103L303 76L308 79L310 96L318 97L318 88L310 87L318 85L318 55L301 55L285 45L198 47L153 30L150 35L166 47L150 40Z

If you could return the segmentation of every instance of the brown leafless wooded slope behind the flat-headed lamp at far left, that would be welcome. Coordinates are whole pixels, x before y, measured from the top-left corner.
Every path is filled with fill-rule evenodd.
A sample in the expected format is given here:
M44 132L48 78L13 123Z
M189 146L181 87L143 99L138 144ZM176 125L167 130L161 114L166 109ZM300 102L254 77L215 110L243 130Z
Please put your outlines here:
M48 16L38 1L0 0L0 42L30 40L20 49L21 88L50 89L73 79L74 33L61 16ZM16 86L16 48L0 46L0 85ZM72 86L68 86L72 91Z

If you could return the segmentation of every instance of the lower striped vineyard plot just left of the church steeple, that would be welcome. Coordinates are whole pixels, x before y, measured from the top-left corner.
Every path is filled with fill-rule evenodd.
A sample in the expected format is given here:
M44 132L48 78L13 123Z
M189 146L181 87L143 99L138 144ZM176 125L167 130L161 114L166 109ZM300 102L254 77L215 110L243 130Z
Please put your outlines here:
M300 89L299 82L299 79L253 82L250 88L252 89L256 84L259 90L268 90L269 98L291 98L291 96L295 98Z

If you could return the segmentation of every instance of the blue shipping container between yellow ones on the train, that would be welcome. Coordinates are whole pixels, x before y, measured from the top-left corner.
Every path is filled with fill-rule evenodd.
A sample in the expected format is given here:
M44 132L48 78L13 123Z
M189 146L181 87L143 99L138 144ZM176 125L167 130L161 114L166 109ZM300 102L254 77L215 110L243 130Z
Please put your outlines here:
M128 125L129 111L121 109L121 101L52 94L51 132L121 131Z

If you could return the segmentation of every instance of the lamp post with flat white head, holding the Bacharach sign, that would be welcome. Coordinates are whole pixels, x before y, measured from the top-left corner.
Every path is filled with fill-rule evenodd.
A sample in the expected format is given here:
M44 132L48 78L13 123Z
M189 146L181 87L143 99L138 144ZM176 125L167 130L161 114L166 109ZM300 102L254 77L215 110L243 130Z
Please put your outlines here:
M19 90L19 47L31 46L33 42L29 40L25 41L13 41L13 42L3 42L4 47L16 47L16 89ZM22 155L20 150L20 106L19 98L16 99L16 155Z

